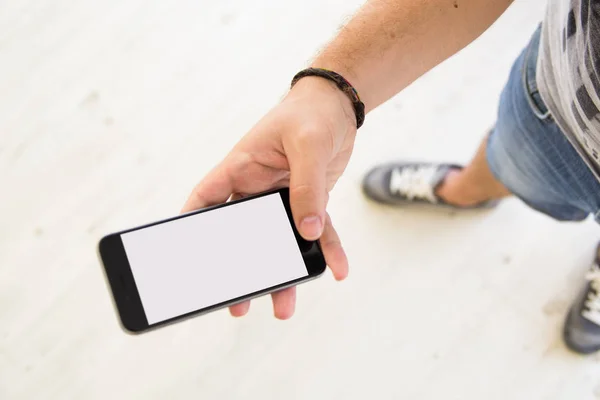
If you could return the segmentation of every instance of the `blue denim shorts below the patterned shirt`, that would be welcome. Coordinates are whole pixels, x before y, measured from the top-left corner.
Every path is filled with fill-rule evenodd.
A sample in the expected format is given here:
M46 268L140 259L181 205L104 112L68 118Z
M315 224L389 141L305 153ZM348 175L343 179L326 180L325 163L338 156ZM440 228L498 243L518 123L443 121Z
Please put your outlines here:
M515 61L487 142L494 176L530 207L560 221L600 222L600 183L553 121L535 80L540 29Z

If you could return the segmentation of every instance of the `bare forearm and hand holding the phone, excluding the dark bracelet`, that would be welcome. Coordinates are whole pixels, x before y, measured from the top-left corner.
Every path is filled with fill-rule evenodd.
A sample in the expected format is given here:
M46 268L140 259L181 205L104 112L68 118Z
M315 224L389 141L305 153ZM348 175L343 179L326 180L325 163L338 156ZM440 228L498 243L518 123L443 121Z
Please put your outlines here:
M469 44L511 1L370 0L312 66L350 80L369 112ZM325 207L355 136L356 116L346 95L326 79L302 78L196 186L183 211L289 186L300 234L321 239L333 275L344 279L348 261ZM276 317L293 314L295 296L295 288L273 294ZM230 311L242 316L249 306Z

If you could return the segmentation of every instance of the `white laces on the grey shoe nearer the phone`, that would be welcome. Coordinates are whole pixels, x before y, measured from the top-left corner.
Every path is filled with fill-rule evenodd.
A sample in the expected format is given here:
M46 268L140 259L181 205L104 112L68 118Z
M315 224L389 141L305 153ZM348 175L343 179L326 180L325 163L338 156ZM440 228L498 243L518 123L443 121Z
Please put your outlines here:
M437 203L431 182L437 167L394 168L390 179L390 192L409 200L424 199Z

